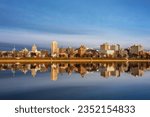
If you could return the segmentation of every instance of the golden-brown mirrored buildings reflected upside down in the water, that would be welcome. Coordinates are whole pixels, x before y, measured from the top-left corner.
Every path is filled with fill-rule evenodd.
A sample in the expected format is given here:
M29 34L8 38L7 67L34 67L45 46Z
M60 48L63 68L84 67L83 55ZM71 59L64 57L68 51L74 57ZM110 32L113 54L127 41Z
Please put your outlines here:
M150 70L150 63L34 63L34 64L0 64L0 71L11 70L13 74L21 71L24 74L31 72L32 77L36 77L38 72L50 71L50 79L58 80L58 74L78 73L84 77L88 73L99 72L100 76L109 78L111 76L120 77L122 73L128 73L135 77L141 77L145 71Z

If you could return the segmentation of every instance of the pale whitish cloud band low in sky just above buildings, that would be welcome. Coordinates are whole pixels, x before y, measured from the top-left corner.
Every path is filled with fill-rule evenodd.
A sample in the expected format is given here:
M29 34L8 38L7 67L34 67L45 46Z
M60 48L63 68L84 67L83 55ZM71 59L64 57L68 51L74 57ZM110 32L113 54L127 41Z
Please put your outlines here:
M149 48L149 36L131 36L120 33L107 32L100 35L65 35L65 34L48 34L28 32L23 30L0 30L0 42L13 44L28 44L33 43L41 47L50 46L51 41L56 40L59 46L79 47L84 44L88 47L99 47L100 44L108 42L112 44L120 44L123 47L128 47L133 44L142 44L146 49Z

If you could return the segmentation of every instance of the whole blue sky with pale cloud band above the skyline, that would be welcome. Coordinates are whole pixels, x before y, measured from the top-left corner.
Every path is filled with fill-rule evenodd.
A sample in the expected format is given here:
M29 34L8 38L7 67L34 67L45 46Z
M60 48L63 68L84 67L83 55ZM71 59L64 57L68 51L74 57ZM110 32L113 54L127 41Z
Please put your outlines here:
M149 6L149 0L0 0L0 42L150 49Z

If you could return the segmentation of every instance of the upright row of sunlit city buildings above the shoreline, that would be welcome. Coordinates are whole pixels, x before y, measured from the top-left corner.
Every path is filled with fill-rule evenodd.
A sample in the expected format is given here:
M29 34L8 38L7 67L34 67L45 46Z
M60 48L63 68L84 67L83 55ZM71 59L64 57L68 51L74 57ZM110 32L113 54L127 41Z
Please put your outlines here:
M85 58L85 60L97 59L98 61L108 58L108 60L146 60L150 59L150 51L145 50L142 45L132 45L128 48L122 48L119 44L109 44L103 43L99 45L99 48L89 48L85 45L80 45L77 48L67 47L61 48L57 41L52 41L50 43L50 49L38 49L37 45L33 44L31 50L24 48L21 50L16 50L15 46L11 51L0 50L0 59L5 61L5 58L12 59L24 59L32 60L38 58L39 60L51 61L52 59L60 58L59 61L63 59L70 58L73 61ZM30 59L32 58L32 59ZM97 61L96 60L96 61Z

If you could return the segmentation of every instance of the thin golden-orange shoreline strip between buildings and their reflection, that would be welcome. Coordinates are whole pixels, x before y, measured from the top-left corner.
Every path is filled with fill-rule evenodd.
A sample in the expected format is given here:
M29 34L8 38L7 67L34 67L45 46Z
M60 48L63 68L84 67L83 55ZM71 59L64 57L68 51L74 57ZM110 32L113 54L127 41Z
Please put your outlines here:
M52 59L52 58L26 58L26 59L0 59L0 63L100 63L100 62L150 62L150 59L95 59L95 58L73 58L73 59Z

